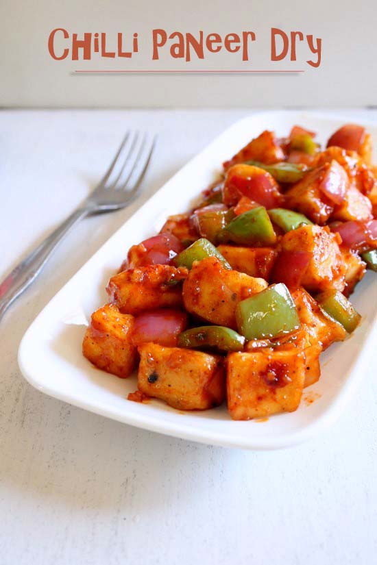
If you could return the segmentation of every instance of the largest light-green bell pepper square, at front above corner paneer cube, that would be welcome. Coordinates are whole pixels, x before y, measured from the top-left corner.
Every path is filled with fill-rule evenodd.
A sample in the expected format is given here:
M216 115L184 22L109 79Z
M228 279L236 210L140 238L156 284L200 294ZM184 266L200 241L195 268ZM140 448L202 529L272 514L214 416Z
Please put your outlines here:
M271 284L239 302L236 323L247 340L278 338L301 327L295 303L283 283Z

